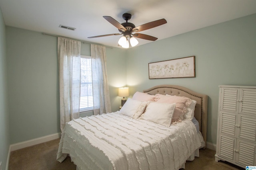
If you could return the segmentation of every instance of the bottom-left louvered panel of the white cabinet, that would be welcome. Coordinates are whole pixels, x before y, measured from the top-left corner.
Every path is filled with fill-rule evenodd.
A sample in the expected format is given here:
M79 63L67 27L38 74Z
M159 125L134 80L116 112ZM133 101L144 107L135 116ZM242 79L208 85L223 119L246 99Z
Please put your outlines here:
M234 161L234 153L236 147L236 139L232 137L222 136L219 138L218 156Z

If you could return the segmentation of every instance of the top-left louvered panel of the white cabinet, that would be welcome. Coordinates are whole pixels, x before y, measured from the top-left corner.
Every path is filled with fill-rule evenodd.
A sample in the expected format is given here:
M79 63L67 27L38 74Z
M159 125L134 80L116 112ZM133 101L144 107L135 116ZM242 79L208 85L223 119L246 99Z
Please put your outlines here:
M222 88L220 98L220 109L238 113L239 88Z

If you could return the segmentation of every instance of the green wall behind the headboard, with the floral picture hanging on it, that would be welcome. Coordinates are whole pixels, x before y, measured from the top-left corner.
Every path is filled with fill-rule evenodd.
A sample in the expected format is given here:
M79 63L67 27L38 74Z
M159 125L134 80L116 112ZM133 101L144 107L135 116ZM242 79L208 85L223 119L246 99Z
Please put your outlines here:
M207 141L216 144L218 86L256 86L256 14L131 48L127 84L131 93L176 84L208 97ZM196 56L195 78L148 79L148 63Z

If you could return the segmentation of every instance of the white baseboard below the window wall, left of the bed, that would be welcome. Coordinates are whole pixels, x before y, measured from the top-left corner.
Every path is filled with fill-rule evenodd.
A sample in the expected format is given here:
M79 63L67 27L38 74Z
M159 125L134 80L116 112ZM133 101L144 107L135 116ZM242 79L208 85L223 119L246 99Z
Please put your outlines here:
M52 135L47 135L47 136L44 136L44 137L39 137L39 138L36 138L36 139L31 139L31 140L28 140L28 141L12 144L12 145L10 145L10 151L30 147L30 146L33 146L33 145L37 145L37 144L44 143L44 142L47 142L47 141L51 141L51 140L58 139L58 138L60 138L60 133L55 133L55 134L52 134Z

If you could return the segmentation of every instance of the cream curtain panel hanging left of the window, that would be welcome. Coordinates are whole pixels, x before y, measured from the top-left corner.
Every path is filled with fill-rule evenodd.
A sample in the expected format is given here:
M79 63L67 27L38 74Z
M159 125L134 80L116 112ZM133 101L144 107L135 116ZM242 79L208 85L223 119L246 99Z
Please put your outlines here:
M60 129L79 117L81 42L58 37Z

